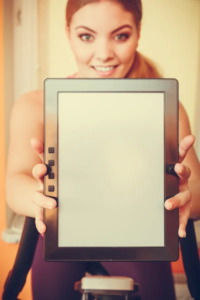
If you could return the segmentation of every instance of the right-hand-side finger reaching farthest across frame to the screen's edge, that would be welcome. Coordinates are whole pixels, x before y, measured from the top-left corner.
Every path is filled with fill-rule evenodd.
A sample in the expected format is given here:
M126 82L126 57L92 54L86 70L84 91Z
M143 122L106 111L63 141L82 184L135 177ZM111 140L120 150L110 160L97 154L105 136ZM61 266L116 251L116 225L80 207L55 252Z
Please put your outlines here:
M188 186L185 189L182 189L181 192L177 193L175 196L167 199L164 202L164 207L167 210L174 209L176 207L181 207L186 205L191 201L191 191Z

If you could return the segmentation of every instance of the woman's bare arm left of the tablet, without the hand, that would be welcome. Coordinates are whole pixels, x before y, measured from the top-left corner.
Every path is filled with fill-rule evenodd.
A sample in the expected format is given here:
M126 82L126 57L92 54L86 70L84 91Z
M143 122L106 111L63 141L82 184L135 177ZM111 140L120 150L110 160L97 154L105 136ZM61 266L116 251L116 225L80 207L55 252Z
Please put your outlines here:
M17 214L35 216L36 205L31 195L38 190L32 168L41 163L32 149L30 139L43 141L43 92L33 91L21 96L13 106L10 118L10 140L6 170L6 201Z

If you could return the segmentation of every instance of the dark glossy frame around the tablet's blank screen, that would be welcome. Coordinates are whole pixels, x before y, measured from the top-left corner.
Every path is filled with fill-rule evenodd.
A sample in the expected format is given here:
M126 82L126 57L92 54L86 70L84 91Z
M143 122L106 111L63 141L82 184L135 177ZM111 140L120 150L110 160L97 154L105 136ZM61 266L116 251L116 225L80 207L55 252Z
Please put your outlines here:
M57 124L58 92L162 92L164 94L164 201L178 193L178 176L173 170L178 162L178 81L176 79L137 78L47 78L44 81L44 163L54 160L48 167L54 179L44 176L44 194L57 197L57 128L48 132L48 125ZM53 113L52 113L53 111ZM51 115L51 119L49 117ZM172 132L172 134L171 134ZM54 153L48 148L54 147ZM169 171L172 167L172 171ZM171 170L171 169L170 169ZM50 180L50 181L49 181ZM48 191L54 185L54 191ZM164 205L163 201L163 205ZM175 261L178 259L178 208L164 209L163 247L58 247L58 207L44 209L43 256L47 261ZM153 234L153 232L151 232Z

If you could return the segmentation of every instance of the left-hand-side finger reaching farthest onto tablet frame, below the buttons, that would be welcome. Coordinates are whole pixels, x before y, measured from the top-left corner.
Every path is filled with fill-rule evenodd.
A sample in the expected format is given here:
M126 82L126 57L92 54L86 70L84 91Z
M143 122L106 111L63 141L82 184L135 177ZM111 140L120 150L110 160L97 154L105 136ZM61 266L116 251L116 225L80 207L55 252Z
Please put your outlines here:
M41 208L53 209L57 205L55 199L47 197L40 191L35 191L31 196L31 200L35 205Z

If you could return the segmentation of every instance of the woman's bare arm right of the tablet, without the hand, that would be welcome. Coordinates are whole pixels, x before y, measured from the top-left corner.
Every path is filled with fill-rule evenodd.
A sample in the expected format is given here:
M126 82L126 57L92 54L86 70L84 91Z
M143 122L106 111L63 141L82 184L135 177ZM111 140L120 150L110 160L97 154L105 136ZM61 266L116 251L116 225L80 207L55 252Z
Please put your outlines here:
M179 142L186 135L191 134L189 120L184 107L179 102ZM199 219L200 218L200 163L198 161L197 155L195 153L194 147L192 146L183 163L189 166L191 170L191 175L188 180L188 187L191 191L191 212L190 218Z

